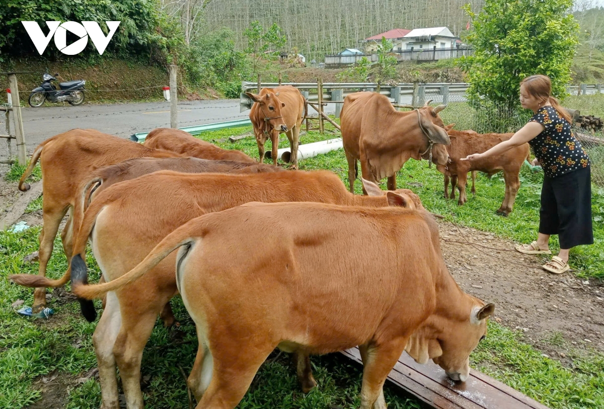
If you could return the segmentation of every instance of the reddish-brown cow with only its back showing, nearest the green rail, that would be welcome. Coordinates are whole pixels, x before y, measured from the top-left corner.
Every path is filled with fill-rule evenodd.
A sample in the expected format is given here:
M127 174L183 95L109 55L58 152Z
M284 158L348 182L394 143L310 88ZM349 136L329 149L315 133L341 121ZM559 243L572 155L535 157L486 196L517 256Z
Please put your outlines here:
M199 159L233 160L234 162L254 163L255 160L242 151L222 149L210 142L195 138L188 132L173 128L156 128L149 132L143 143L146 147L163 149L193 156Z

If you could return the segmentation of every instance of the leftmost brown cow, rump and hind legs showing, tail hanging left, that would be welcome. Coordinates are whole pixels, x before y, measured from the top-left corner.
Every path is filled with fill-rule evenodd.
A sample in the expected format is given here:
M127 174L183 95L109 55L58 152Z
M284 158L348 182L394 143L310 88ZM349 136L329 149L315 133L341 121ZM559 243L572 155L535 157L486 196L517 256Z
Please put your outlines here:
M40 276L46 275L48 260L53 253L54 238L63 216L72 209L79 197L82 182L97 168L113 165L133 157L175 157L178 154L150 149L135 142L107 135L94 129L72 129L42 142L31 155L30 165L19 181L19 190L27 191L25 180L40 159L42 167L42 218L39 259ZM72 218L61 233L63 250L69 259L72 249ZM33 308L46 305L45 288L34 293Z

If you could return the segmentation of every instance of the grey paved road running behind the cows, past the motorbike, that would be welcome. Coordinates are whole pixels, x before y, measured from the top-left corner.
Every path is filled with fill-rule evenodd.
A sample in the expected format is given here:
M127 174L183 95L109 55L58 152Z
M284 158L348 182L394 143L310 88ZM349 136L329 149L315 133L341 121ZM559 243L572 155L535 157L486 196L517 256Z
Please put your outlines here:
M326 112L332 112L333 109L333 106L328 106ZM22 112L28 154L50 136L73 128L94 128L111 135L129 138L133 133L170 126L170 103L167 101L85 104L79 107L70 105L63 107L57 104L40 108L25 107ZM313 110L311 112L316 115ZM179 127L245 119L248 115L249 110L239 112L238 100L179 101L178 103ZM4 125L1 128L4 129ZM4 151L2 154L5 154Z

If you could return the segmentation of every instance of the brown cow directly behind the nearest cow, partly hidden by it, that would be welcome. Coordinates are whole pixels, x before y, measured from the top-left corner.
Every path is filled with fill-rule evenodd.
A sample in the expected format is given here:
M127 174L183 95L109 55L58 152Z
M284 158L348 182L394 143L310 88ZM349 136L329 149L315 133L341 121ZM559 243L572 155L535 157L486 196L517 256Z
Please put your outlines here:
M367 182L367 186L370 194L379 196L351 194L339 177L329 171L248 175L155 172L117 183L98 194L86 210L74 252L83 255L91 235L92 251L104 279L109 282L127 273L162 238L192 218L249 201L320 201L370 207L388 205L387 192L371 182ZM413 192L399 189L397 193L410 197L416 207L422 208ZM405 203L400 201L400 204ZM239 235L233 238L233 246L238 242ZM269 249L263 243L258 245ZM18 282L16 277L9 279ZM120 368L128 407L143 406L139 382L143 349L158 314L177 293L175 258L170 257L147 274L145 280L107 294L106 308L93 337L103 408L118 405L116 363ZM83 312L86 319L94 320L94 307L83 309ZM302 370L306 367L304 357L298 357L298 360L301 362L298 376L303 390L310 390L315 381L309 372Z

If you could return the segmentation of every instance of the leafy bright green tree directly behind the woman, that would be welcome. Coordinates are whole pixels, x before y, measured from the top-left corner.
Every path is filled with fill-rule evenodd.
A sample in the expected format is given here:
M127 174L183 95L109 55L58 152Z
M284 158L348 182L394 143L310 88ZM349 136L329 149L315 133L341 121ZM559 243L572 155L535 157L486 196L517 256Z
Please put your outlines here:
M564 97L579 28L568 14L572 5L572 0L486 0L479 14L466 7L474 24L466 42L475 51L461 67L471 84L471 103L481 106L486 98L518 108L519 83L533 74L548 75L553 95Z

